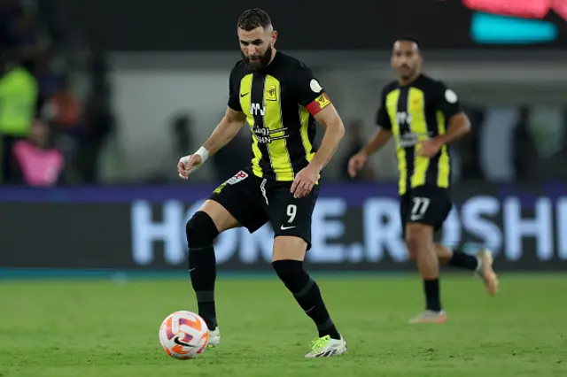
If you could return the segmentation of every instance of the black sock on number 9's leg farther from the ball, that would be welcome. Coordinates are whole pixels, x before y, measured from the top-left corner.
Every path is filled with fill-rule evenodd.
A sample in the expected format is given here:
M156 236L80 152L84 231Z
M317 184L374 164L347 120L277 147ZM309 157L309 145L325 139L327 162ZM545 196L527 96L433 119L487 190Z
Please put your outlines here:
M291 291L299 306L315 322L319 336L329 335L333 339L340 339L337 327L330 319L329 312L322 301L321 290L303 268L303 262L299 260L277 260L272 265L277 276Z

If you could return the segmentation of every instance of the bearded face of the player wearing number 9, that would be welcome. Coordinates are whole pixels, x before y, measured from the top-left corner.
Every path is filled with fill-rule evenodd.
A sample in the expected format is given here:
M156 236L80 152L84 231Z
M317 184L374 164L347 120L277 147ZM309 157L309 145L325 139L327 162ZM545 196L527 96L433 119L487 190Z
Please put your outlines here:
M252 70L266 67L272 59L277 32L268 27L256 27L251 31L238 28L238 40L242 58Z

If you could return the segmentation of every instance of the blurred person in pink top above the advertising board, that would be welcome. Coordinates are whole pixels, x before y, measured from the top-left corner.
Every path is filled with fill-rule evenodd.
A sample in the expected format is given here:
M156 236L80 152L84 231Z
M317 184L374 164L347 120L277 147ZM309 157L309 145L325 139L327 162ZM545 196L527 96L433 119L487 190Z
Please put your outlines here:
M50 147L50 127L36 119L29 136L13 145L10 183L48 187L63 181L64 158Z

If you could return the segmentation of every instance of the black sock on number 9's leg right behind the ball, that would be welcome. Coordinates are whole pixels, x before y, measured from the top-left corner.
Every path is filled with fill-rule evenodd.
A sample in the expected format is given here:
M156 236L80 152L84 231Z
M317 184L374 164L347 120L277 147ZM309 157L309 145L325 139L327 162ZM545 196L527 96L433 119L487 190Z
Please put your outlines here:
M198 315L205 319L210 330L217 327L214 306L216 258L213 242L219 232L206 212L196 212L185 227L189 245L189 273L197 295Z

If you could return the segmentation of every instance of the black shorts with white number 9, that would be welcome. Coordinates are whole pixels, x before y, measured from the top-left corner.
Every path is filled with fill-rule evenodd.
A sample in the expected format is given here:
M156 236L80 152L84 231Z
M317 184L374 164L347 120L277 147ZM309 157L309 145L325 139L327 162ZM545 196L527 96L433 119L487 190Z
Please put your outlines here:
M250 233L268 221L275 236L293 235L307 242L311 249L311 217L319 196L315 185L307 196L294 198L291 182L273 181L255 176L251 169L236 173L216 188L209 199L221 204Z

